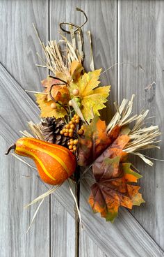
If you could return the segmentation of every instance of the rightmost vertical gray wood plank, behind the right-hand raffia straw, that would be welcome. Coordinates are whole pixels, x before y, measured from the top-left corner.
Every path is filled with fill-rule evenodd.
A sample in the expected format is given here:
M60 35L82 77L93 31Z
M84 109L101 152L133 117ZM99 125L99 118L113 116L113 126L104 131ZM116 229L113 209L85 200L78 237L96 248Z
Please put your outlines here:
M119 1L118 8L118 61L126 63L118 68L119 101L135 93L134 110L149 109L149 117L156 118L148 119L147 124L159 124L162 130L163 117L158 110L163 109L163 7L161 1ZM156 87L151 85L154 81ZM163 159L158 150L146 154ZM163 194L163 164L156 162L151 168L135 159L134 165L143 175L140 191L146 203L135 207L132 213L163 247L163 203L159 203Z

